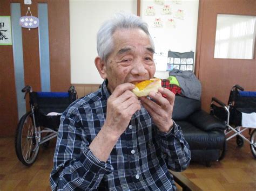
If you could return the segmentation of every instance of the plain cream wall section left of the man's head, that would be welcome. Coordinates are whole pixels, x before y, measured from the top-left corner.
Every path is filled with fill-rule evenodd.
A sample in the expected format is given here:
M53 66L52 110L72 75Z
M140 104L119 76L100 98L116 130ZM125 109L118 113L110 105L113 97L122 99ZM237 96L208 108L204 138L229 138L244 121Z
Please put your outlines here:
M137 1L70 0L71 83L99 84L95 67L96 34L100 25L115 12L137 13Z

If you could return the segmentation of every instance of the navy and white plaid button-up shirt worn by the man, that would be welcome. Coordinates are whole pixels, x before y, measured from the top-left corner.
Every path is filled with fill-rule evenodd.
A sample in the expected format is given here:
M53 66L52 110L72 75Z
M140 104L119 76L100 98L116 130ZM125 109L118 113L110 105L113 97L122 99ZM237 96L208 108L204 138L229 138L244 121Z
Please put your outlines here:
M102 88L76 102L60 119L53 169L53 190L173 190L168 169L183 171L190 162L190 150L180 127L158 131L142 108L131 118L107 162L99 161L89 145L106 118L110 96Z

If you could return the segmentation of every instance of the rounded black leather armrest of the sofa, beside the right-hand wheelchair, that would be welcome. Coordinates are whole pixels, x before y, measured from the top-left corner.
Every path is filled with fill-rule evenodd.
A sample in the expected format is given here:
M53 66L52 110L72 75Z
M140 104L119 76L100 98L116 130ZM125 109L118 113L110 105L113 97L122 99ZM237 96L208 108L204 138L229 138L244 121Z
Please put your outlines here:
M203 110L194 112L192 115L188 117L187 120L203 131L226 129L224 122L219 121L219 119L213 117L212 115L208 114Z

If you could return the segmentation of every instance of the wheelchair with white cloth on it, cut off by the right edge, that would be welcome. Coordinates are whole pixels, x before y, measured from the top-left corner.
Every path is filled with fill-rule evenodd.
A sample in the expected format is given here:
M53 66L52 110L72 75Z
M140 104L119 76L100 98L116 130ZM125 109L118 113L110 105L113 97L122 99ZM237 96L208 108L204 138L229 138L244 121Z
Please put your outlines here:
M245 140L250 144L252 155L256 158L256 125L254 126L256 114L254 112L256 112L256 91L244 91L244 88L238 84L232 87L227 105L212 97L210 114L225 123L226 140L236 137L238 147L242 147ZM252 114L250 118L253 121L252 126L251 124L242 126L242 116L247 114ZM247 129L250 139L242 135L242 132ZM221 158L224 158L224 155L225 151L222 153Z

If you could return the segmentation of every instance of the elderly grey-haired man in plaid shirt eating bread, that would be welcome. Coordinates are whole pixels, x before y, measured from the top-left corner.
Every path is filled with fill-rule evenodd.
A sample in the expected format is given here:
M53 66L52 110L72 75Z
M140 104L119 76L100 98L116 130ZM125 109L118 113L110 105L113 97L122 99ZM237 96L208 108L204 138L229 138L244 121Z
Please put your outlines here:
M159 88L138 98L131 91L156 70L146 23L118 13L100 28L97 51L95 65L104 82L60 119L52 189L176 189L168 169L183 171L191 157L172 121L174 94Z

